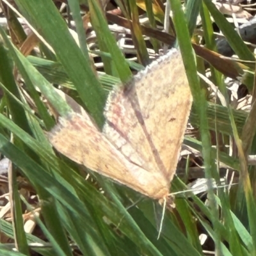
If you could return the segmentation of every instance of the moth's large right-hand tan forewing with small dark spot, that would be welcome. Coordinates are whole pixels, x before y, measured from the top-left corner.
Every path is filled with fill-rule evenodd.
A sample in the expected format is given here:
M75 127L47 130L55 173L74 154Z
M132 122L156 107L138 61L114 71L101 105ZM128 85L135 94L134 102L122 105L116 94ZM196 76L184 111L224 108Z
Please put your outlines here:
M172 180L192 103L180 52L159 60L159 65L148 72L143 84L145 88L136 86L141 113L148 116L145 126L156 148L159 166L163 164L161 171L166 171L166 178ZM150 97L145 96L145 92Z

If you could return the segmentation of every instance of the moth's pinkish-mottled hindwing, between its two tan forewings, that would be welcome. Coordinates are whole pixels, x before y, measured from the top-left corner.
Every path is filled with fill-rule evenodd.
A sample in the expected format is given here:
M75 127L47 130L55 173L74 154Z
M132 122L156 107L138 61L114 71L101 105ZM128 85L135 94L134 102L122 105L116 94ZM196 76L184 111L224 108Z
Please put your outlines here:
M131 90L133 88L134 86ZM131 92L129 95L131 96ZM131 97L136 97L136 95ZM148 172L159 172L154 161L154 154L148 144L147 134L138 122L130 98L125 95L124 90L118 90L111 93L109 99L107 103L109 107L105 111L106 124L103 133L129 161L145 168Z

